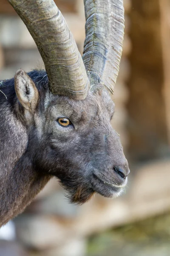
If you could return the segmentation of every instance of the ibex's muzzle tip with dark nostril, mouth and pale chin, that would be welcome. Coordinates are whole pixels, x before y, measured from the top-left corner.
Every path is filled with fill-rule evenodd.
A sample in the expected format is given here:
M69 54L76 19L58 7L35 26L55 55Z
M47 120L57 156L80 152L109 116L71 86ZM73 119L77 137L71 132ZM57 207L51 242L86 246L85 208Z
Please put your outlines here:
M127 175L130 173L128 164L113 166L112 169L93 172L92 185L95 192L108 198L115 198L125 190Z

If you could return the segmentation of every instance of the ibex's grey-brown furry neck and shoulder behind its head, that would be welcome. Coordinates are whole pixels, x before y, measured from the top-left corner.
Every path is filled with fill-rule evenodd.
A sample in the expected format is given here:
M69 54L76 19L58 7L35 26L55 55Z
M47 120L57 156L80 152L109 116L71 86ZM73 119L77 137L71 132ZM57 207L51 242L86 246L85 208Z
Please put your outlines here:
M50 179L33 168L26 127L7 103L0 106L0 226L23 212Z

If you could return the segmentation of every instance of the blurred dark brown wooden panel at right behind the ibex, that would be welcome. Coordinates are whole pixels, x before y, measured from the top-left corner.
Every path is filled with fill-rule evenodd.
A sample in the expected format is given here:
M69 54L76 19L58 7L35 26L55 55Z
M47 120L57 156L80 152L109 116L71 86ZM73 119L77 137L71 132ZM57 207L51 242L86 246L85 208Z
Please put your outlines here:
M168 26L166 32L161 31L162 22L165 17L169 19L170 13L168 4L163 2L169 4L164 0L132 0L130 12L133 50L129 58L128 131L129 152L137 161L156 159L170 153L167 140L170 133L167 122L170 112Z

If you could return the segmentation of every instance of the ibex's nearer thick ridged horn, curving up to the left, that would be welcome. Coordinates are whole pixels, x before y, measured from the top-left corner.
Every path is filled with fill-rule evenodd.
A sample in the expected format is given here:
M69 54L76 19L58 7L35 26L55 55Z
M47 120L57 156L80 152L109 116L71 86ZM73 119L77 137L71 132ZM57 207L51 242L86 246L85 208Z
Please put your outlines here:
M64 17L53 0L9 0L33 37L54 94L85 99L89 79Z

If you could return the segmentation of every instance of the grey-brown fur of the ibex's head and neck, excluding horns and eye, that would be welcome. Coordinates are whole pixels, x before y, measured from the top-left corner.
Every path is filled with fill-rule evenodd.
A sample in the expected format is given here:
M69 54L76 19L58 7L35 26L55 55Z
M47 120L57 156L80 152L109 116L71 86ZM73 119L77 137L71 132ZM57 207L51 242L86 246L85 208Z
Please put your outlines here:
M119 195L129 168L110 124L114 103L105 89L77 101L53 95L44 70L23 74L22 84L16 76L15 84L14 79L0 82L0 226L23 212L53 176L74 203L95 192ZM23 87L27 80L33 83L29 90ZM60 117L72 125L59 125Z

